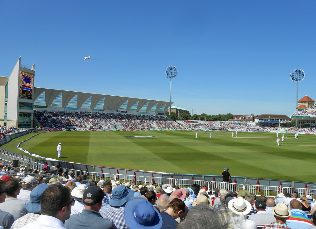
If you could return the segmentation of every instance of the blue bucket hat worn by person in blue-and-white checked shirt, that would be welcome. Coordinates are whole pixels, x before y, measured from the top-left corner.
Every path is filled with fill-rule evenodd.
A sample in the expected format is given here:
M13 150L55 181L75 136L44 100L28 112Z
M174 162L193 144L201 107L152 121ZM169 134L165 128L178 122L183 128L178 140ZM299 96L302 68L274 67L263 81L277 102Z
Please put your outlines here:
M134 191L125 185L119 185L112 190L112 199L109 201L111 206L122 206L125 202L134 197Z

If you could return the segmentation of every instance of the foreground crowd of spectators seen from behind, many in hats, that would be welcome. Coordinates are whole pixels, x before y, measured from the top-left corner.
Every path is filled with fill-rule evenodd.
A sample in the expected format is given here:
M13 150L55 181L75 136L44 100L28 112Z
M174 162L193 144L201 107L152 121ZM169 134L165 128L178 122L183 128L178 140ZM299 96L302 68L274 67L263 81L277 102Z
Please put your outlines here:
M59 166L43 172L1 172L3 229L316 228L316 202L309 195L267 198L228 187L95 181L74 177Z

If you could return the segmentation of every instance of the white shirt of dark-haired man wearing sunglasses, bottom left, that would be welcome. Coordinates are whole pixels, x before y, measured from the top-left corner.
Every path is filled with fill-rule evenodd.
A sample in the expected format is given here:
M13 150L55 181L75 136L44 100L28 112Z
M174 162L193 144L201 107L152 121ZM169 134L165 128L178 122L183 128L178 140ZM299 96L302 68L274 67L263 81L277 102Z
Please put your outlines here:
M62 221L49 215L40 215L39 218L33 223L21 227L21 229L65 229Z

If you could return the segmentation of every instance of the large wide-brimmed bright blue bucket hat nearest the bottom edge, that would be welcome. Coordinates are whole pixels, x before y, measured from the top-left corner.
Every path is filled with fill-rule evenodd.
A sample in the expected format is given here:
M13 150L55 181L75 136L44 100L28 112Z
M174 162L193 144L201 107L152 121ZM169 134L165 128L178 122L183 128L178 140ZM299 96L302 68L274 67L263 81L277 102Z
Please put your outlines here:
M160 229L162 218L158 210L143 198L134 198L124 208L124 218L130 229Z

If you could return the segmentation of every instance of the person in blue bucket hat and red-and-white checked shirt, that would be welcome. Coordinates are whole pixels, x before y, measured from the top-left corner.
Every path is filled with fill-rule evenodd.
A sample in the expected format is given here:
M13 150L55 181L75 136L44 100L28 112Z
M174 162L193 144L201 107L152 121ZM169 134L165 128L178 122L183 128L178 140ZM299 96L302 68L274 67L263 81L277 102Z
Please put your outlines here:
M25 207L28 213L21 218L14 221L11 229L19 229L28 223L34 222L40 217L40 199L43 192L48 188L47 184L37 185L30 194L30 201L26 203Z

